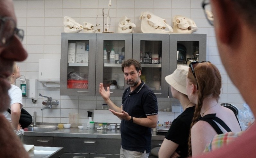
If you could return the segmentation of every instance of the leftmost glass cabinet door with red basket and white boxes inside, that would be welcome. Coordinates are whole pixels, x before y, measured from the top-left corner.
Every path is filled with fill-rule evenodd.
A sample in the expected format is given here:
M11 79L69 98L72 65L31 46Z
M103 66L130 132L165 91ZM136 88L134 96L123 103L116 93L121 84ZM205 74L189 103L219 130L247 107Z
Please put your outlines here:
M95 95L96 34L62 33L60 95Z

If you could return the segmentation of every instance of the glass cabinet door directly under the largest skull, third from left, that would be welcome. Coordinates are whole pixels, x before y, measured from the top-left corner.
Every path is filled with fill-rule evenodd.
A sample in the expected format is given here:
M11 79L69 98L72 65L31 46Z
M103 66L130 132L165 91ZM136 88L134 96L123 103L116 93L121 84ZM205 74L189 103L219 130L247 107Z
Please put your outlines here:
M157 97L168 97L169 34L134 33L133 58L142 66L141 80Z

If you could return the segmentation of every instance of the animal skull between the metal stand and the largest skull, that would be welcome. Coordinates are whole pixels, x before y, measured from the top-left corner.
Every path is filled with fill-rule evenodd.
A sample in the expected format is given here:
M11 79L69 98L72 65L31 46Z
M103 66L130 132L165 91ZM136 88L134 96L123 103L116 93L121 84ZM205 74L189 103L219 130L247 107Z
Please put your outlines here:
M121 17L118 24L118 33L132 33L136 25L131 22L131 19L128 19L127 16Z

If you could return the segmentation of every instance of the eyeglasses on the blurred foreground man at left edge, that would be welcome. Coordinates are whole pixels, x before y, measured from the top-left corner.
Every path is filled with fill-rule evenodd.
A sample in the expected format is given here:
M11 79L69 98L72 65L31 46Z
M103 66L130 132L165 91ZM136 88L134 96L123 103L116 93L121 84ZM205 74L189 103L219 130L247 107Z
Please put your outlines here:
M11 17L0 17L0 46L8 46L13 36L22 41L24 37L24 31L16 27L16 22Z

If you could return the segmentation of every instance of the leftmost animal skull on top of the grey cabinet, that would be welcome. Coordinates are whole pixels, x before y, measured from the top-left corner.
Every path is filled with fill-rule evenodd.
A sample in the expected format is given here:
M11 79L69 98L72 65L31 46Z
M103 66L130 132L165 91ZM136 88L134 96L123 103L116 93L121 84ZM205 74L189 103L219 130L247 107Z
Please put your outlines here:
M64 32L80 32L83 30L83 26L75 22L75 20L69 16L64 17L63 24L64 24Z

